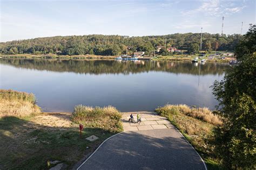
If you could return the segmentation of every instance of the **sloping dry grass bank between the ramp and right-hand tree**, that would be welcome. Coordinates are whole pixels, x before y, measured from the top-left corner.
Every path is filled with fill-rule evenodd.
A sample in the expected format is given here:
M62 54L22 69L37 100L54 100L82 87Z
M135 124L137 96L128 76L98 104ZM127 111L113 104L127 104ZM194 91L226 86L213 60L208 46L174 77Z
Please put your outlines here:
M208 108L191 108L187 105L165 105L156 112L171 123L199 152L208 169L221 169L220 161L213 151L213 130L222 125L221 118Z

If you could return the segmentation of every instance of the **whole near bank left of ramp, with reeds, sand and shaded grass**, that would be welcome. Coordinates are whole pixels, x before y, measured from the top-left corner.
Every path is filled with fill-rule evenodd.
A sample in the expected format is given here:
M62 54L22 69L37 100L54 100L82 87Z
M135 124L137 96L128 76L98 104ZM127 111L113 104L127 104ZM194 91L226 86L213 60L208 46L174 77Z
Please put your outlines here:
M48 169L58 160L70 169L101 142L122 131L116 108L76 106L70 113L41 113L33 94L0 91L0 169ZM85 119L86 118L86 121ZM97 119L97 121L94 121ZM82 138L77 123L84 123ZM90 142L90 135L99 137Z

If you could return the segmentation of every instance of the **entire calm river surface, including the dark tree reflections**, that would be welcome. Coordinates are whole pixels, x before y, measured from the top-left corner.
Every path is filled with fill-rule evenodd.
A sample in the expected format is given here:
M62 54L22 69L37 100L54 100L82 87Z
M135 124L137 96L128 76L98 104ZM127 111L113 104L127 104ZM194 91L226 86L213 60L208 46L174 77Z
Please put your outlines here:
M114 60L0 59L1 89L32 92L44 111L77 104L151 111L187 104L214 109L210 86L228 64Z

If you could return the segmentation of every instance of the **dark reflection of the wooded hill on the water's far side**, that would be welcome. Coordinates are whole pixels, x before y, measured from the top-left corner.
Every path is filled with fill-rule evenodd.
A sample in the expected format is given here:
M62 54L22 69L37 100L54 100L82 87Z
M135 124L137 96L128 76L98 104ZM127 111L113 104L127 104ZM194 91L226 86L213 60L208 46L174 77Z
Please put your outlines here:
M19 68L75 73L140 73L164 71L186 74L223 74L224 63L150 62L144 60L52 60L52 59L0 59L1 64ZM200 66L200 67L198 67Z

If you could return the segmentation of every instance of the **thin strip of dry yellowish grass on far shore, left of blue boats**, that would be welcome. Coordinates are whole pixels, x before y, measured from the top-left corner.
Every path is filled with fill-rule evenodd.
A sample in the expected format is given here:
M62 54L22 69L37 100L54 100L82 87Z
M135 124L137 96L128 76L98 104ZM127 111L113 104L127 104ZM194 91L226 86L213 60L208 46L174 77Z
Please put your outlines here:
M35 54L19 54L19 55L0 55L2 58L41 58L41 59L114 59L116 56L99 56L99 55L35 55Z

